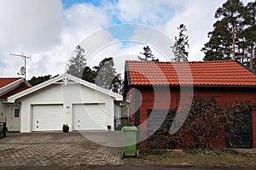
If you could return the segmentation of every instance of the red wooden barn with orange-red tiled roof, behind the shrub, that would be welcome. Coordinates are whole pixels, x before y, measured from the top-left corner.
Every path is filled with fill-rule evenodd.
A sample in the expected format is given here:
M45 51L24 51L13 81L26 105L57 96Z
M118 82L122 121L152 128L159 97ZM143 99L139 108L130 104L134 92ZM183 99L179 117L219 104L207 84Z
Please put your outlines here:
M150 111L179 110L195 97L214 97L219 105L256 103L256 74L236 60L125 62L125 98L130 122L146 134ZM249 132L237 147L256 147L256 110L247 117ZM151 120L154 122L154 120ZM147 135L146 135L147 136ZM216 139L225 147L224 137Z

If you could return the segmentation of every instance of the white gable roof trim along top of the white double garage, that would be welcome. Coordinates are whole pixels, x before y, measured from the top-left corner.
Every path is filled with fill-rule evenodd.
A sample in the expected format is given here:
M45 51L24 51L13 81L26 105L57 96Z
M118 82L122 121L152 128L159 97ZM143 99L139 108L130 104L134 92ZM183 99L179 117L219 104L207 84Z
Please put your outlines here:
M45 88L45 87L49 86L50 84L53 84L53 83L59 82L59 81L63 81L63 83L66 84L69 80L72 80L73 82L80 83L81 85L84 85L88 88L92 88L92 89L94 89L98 92L101 92L102 94L108 94L109 96L113 97L113 99L115 99L117 101L122 101L123 100L123 96L121 96L119 94L115 94L115 93L113 93L113 92L111 92L111 91L109 91L105 88L101 88L101 87L97 86L96 84L86 82L86 81L84 81L84 80L82 80L78 77L73 77L72 75L65 73L65 74L62 74L58 77L52 78L49 81L42 82L42 83L38 84L37 86L34 86L32 88L28 88L25 91L20 92L19 94L15 94L15 95L10 96L8 98L8 102L14 103L15 99L19 99L23 96L26 96L27 94L32 94L33 92L38 91L41 88Z

